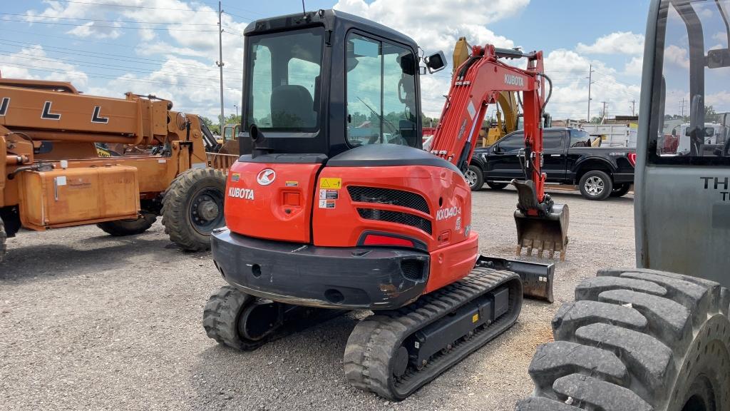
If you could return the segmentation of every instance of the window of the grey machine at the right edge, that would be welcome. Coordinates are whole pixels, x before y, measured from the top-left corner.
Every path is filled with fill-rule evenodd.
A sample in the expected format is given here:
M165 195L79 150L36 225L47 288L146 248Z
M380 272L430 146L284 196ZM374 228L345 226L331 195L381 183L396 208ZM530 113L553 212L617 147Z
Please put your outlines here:
M661 3L650 161L715 164L730 157L730 0ZM650 146L653 141L650 141ZM707 157L713 159L707 159ZM704 159L702 159L704 158Z

